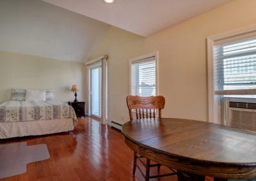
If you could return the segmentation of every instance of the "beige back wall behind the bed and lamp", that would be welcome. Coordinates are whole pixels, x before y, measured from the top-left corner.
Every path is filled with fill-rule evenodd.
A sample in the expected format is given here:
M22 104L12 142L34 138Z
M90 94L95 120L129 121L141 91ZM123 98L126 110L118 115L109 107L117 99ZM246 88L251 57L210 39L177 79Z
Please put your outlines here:
M73 101L73 84L80 89L77 99L81 101L85 97L84 67L75 62L0 52L0 103L10 100L12 88L53 89L56 100Z

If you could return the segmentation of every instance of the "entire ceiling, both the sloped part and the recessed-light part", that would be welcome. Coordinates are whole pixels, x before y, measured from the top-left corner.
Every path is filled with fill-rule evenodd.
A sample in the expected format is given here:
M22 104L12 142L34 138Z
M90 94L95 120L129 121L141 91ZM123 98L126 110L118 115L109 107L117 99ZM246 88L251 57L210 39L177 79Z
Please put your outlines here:
M148 36L230 0L44 1L0 0L0 51L83 62L109 24Z

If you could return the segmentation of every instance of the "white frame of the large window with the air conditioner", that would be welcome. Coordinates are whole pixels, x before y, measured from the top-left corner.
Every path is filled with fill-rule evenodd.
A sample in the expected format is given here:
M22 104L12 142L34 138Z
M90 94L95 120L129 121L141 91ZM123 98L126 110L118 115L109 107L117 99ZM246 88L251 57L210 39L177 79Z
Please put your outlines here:
M237 90L228 90L228 91L218 91L215 92L215 82L214 82L214 43L216 41L225 41L225 40L242 40L248 36L256 34L256 25L250 27L245 27L237 29L234 31L229 31L227 33L221 33L214 36L209 36L207 38L207 91L208 91L208 121L220 124L220 120L217 120L217 108L215 106L215 95L217 94L241 94L240 89ZM233 41L233 40L232 40ZM244 94L255 94L256 89L245 89L243 90Z

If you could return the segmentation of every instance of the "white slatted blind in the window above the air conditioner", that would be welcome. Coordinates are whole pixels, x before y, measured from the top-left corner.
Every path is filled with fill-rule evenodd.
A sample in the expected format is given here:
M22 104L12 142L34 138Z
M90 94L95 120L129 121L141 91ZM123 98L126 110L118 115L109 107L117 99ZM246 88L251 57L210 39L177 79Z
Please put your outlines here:
M216 94L254 94L256 37L214 46Z

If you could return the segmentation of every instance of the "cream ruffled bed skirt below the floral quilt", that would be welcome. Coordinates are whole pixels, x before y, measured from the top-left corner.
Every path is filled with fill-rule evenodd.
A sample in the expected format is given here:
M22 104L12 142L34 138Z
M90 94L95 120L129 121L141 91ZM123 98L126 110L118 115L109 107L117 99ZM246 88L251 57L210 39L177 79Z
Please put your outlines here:
M74 129L73 119L0 122L0 139L61 133Z

